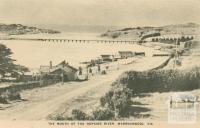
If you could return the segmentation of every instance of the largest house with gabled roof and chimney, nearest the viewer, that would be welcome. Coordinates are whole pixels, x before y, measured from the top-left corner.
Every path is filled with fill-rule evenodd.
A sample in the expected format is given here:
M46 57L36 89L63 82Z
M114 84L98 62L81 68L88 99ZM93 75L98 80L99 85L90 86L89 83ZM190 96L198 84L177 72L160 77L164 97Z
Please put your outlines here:
M49 66L40 66L40 73L41 75L49 75L54 76L57 78L62 78L63 81L73 81L76 80L76 72L78 70L72 66L70 66L65 61L62 61L61 63L52 66L52 62L50 61Z

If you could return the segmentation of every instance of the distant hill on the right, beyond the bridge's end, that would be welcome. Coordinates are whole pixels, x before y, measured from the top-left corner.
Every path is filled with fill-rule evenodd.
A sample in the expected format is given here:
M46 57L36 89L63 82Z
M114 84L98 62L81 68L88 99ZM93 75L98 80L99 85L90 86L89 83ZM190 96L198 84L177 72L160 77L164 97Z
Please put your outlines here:
M138 40L144 35L160 33L160 35L183 34L196 35L200 34L200 25L195 23L167 25L161 27L129 27L120 30L107 31L101 34L101 37L112 39L131 39Z

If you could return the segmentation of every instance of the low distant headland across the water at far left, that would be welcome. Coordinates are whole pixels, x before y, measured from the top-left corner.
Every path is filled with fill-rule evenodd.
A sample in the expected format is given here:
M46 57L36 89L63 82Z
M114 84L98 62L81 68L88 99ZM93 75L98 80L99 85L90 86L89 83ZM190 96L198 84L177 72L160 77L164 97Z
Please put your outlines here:
M8 35L23 35L23 34L38 34L38 33L55 34L60 32L51 29L41 29L37 27L24 26L21 24L0 24L0 33Z

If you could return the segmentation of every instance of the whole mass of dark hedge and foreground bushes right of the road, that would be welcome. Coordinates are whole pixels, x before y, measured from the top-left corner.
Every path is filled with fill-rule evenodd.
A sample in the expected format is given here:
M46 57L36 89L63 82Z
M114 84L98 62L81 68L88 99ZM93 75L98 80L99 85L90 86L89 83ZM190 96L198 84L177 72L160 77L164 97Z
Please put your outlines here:
M188 91L200 88L200 68L190 70L150 70L125 72L115 81L100 107L91 115L73 110L71 120L117 120L134 113L131 97L141 93Z

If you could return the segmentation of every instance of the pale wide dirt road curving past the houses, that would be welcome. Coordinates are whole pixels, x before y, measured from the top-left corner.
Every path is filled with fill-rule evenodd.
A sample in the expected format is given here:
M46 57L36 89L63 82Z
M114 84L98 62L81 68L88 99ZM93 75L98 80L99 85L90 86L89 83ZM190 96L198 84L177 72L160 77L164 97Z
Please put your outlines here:
M96 75L84 82L68 82L64 85L56 84L44 88L26 90L21 93L22 102L16 102L2 107L0 120L46 120L47 117L64 107L70 106L75 98L89 92L98 94L99 97L106 93L111 83L124 71L143 71L155 68L166 61L167 57L143 57L134 63L121 65L119 70L113 70L106 75ZM104 91L102 91L104 89ZM81 104L81 101L79 102ZM0 104L1 108L1 104Z

